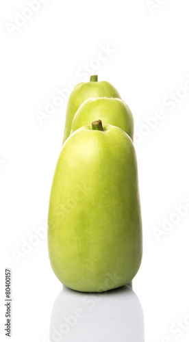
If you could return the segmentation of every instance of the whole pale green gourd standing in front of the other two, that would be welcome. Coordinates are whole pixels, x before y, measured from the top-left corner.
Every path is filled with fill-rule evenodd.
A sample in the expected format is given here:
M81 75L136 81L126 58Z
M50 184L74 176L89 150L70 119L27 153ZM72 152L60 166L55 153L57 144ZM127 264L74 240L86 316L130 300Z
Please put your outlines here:
M99 122L81 127L62 146L49 201L53 272L86 292L127 284L142 259L134 145L122 129Z

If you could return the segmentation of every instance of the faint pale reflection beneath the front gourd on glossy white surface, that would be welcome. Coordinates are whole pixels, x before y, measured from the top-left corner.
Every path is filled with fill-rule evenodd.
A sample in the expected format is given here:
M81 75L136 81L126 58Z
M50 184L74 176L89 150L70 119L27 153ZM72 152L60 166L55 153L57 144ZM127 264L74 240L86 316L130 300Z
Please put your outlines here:
M144 317L127 285L103 293L63 287L53 305L50 341L144 342Z

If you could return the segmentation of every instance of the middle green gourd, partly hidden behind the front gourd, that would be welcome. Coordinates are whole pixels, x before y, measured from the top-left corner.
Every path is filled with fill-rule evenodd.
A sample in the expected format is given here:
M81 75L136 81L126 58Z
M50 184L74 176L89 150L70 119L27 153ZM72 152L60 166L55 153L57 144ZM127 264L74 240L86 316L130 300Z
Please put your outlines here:
M134 140L134 118L131 110L120 98L89 98L77 109L71 133L100 118L103 124L120 127Z

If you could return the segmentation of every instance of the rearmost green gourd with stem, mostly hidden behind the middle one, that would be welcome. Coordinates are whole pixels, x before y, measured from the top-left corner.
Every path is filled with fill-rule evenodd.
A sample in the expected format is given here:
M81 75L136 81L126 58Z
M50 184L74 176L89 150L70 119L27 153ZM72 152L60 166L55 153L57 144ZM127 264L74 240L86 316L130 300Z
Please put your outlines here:
M77 109L84 101L91 97L111 96L121 98L120 94L107 81L98 82L98 76L90 77L90 82L81 82L71 92L66 109L66 122L64 128L63 144L71 134L71 125ZM91 122L90 122L91 123Z

